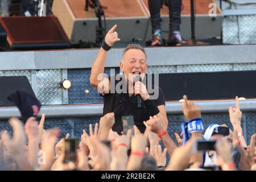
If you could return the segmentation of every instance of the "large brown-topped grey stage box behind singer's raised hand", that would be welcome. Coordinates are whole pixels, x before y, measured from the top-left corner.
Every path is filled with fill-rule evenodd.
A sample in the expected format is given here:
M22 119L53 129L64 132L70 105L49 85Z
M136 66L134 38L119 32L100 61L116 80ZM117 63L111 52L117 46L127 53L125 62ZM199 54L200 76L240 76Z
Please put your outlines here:
M144 40L149 17L140 0L99 0L106 17L106 30L118 25L122 41ZM95 42L98 18L94 9L85 11L85 0L55 0L52 13L57 16L71 44ZM104 26L104 19L102 18Z

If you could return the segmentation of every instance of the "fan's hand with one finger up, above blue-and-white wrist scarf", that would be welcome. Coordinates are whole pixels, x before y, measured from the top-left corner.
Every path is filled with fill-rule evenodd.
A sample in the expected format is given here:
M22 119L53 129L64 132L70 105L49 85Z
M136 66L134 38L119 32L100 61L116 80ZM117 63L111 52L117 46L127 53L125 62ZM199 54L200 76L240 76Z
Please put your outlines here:
M188 101L187 96L183 96L183 100L182 110L185 118L187 118L188 121L195 118L201 118L200 107L193 104L193 102Z

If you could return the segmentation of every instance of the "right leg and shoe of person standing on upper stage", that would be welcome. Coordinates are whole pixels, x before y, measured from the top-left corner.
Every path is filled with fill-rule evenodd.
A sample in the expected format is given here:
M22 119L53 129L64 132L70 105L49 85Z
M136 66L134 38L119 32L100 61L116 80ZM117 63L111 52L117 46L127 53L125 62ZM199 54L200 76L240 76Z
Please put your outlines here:
M169 27L169 39L168 46L175 46L182 42L180 33L181 24L181 0L169 0L169 16L170 16L170 27Z

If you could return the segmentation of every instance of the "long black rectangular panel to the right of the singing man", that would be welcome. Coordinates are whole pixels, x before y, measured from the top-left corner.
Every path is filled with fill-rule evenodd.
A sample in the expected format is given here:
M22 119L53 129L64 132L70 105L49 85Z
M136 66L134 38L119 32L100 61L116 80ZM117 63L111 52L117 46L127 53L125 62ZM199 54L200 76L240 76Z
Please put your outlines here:
M180 100L184 94L189 100L256 98L255 77L256 71L163 73L159 87L166 101Z

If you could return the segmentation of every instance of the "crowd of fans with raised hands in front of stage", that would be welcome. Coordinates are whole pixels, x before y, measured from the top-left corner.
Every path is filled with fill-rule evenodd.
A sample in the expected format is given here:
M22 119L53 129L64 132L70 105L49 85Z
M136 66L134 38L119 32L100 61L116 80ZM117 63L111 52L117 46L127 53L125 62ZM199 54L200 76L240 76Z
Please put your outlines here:
M183 97L184 117L191 121L201 118L200 107ZM45 115L40 122L30 117L25 125L18 118L11 118L13 137L7 131L1 131L0 169L1 170L204 170L207 166L205 156L210 160L208 166L219 166L222 170L256 170L255 134L249 145L243 138L241 127L242 112L236 98L236 108L229 108L230 122L233 126L228 136L210 135L216 140L214 155L209 151L195 151L193 146L199 139L205 139L203 131L191 133L188 140L184 135L175 133L178 145L170 134L163 132L167 128L157 116L144 122L146 131L141 133L136 126L133 131L118 135L112 130L114 113L100 118L94 129L84 129L76 160L64 160L61 150L65 139L58 141L60 130L44 130ZM169 121L169 125L172 122ZM223 126L226 126L223 123ZM82 129L81 129L82 130ZM66 135L66 139L70 136ZM183 138L183 139L181 139ZM165 148L159 142L162 140ZM185 142L184 142L185 141ZM170 155L167 163L166 155ZM213 151L212 151L213 152ZM238 155L239 154L239 155Z

